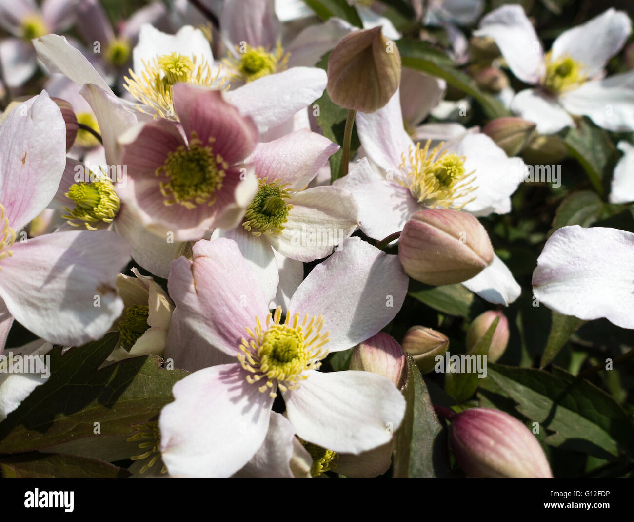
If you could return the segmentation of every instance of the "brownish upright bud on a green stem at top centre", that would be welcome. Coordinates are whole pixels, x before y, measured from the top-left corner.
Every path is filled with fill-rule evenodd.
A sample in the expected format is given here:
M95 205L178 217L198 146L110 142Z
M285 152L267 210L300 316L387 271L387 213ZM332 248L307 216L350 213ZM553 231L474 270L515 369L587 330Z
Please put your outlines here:
M351 32L328 58L328 95L359 112L385 107L401 83L401 55L380 27Z

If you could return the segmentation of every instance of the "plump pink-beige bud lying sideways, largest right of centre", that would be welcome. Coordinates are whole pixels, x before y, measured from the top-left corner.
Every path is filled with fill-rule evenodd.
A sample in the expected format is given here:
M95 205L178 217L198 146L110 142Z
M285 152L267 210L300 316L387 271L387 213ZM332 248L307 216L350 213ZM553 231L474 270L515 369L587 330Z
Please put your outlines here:
M430 208L403 227L398 255L412 279L425 284L462 283L493 261L493 246L480 222L464 212Z

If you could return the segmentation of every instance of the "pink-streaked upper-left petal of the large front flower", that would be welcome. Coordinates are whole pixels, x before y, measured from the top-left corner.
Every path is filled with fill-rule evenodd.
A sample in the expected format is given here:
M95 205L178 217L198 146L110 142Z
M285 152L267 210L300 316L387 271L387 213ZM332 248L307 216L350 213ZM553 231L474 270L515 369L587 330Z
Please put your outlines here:
M256 316L269 314L264 292L235 241L202 239L193 246L193 262L180 257L172 262L169 295L186 312L186 323L211 345L235 356L246 328Z

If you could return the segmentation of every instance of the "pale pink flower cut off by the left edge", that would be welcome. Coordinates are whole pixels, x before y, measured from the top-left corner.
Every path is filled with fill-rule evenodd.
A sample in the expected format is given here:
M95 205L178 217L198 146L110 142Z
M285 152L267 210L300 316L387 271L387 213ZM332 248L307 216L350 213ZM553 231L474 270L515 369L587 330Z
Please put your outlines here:
M65 166L66 127L45 91L0 125L0 347L13 318L44 340L100 338L123 309L114 284L129 260L115 234L20 232L55 196Z

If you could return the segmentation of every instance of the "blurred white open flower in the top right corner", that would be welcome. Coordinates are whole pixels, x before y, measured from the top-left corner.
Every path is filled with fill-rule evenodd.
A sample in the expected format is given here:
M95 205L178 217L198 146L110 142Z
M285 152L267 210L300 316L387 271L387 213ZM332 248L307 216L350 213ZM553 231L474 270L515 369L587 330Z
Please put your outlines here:
M585 114L608 130L634 130L634 72L604 78L605 64L630 33L628 15L610 8L562 32L544 54L533 25L517 5L491 11L474 32L492 37L513 74L536 86L517 93L511 109L534 121L541 134L572 125L571 114Z

